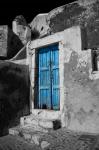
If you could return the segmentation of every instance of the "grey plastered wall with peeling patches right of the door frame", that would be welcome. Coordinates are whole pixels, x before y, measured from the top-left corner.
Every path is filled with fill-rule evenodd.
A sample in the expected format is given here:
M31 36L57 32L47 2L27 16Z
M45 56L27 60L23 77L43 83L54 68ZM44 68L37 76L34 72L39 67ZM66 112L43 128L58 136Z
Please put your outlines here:
M99 133L99 73L92 72L91 50L82 51L81 43L78 27L65 30L65 126L70 130Z

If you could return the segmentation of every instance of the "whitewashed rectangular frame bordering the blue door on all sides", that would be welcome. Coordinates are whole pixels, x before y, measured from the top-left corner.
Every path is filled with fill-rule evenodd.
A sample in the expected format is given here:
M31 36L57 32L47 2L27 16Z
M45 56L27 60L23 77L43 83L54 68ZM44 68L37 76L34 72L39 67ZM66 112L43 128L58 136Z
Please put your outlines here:
M27 63L29 64L30 72L30 113L39 111L48 111L43 109L34 109L34 89L35 89L35 54L36 51L44 46L59 44L59 77L60 77L60 110L55 112L57 116L62 113L64 106L64 31L49 35L42 39L32 41L27 46ZM55 111L55 110L52 110ZM51 111L50 111L51 113Z

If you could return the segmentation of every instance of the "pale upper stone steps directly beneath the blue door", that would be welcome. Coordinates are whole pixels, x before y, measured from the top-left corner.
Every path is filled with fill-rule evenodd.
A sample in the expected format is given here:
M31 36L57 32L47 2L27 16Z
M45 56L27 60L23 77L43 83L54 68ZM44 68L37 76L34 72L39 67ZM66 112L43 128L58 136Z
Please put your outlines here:
M59 111L34 109L29 116L21 117L20 125L32 124L44 128L53 128L56 120L60 120Z

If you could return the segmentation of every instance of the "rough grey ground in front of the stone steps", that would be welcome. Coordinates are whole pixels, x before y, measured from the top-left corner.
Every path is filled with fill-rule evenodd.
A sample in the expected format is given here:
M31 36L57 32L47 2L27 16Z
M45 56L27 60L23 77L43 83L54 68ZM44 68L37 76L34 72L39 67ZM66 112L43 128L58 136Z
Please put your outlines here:
M0 150L41 150L41 145L44 150L99 150L99 136L60 129L42 136L39 146L18 136L0 138Z

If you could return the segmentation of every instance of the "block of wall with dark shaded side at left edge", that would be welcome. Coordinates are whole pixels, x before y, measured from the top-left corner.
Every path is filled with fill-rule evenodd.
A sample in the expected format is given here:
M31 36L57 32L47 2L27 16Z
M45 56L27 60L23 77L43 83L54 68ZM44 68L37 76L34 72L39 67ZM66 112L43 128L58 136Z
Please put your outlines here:
M23 47L19 37L7 26L0 26L0 59L14 57Z

